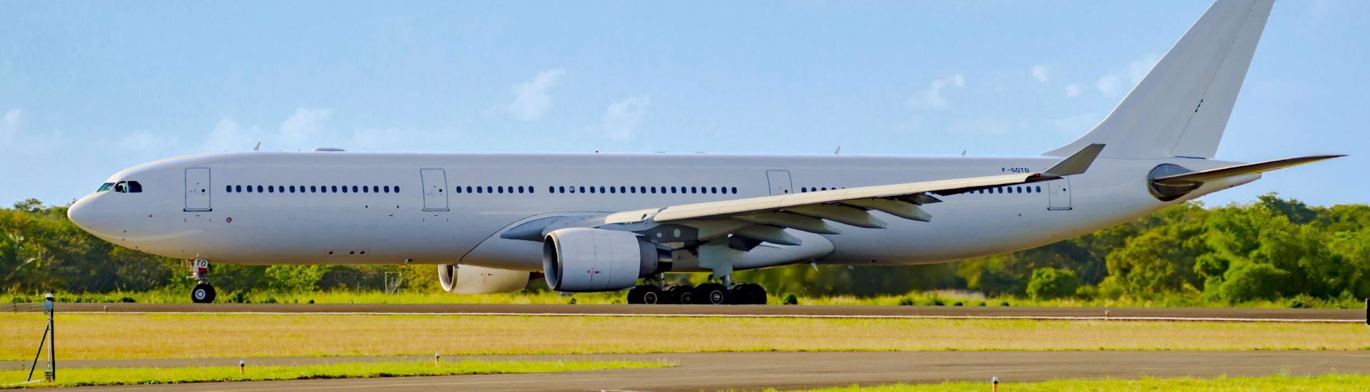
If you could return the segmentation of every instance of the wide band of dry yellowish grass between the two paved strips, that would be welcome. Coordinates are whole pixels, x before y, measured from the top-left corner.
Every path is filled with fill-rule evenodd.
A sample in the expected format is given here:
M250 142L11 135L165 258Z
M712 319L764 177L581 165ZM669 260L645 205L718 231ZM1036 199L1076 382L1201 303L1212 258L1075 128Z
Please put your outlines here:
M56 325L58 356L64 359L433 352L1370 350L1370 330L1360 323L59 314ZM0 359L33 355L29 344L0 347L4 347Z

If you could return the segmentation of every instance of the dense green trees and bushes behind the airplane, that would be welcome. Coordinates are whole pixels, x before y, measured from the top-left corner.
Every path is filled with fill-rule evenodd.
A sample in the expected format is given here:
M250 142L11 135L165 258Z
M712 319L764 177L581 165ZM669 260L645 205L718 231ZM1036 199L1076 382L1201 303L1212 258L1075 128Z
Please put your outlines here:
M438 291L432 266L214 266L223 300L271 293L374 292L403 271L408 292ZM77 229L66 207L0 208L0 280L10 296L188 292L184 260L125 249ZM1310 207L1277 195L1254 203L1185 203L1036 249L929 266L789 266L736 274L782 297L897 297L980 292L1036 303L1281 303L1345 307L1370 296L1370 206ZM699 281L703 277L692 277ZM545 291L540 282L530 291ZM984 297L980 296L980 297ZM908 302L926 295L910 295ZM936 296L934 296L936 297ZM133 300L133 297L130 297ZM801 302L803 303L803 302Z

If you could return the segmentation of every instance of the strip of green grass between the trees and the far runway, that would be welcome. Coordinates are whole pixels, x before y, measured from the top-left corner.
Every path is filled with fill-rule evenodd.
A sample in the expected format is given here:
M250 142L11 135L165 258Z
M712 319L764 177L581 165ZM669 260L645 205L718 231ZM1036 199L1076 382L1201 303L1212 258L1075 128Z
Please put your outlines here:
M221 292L216 302L249 303L515 303L515 304L619 304L623 292L577 293L563 296L555 292L516 292L497 295L452 295L441 291L418 291L386 295L378 291L323 291L323 292ZM786 293L771 293L769 303L778 304ZM1281 300L1255 300L1226 303L1204 300L1200 296L1167 296L1160 299L1052 299L1034 300L1012 296L986 297L975 292L930 291L884 296L807 296L796 295L799 304L840 304L840 306L1051 306L1051 307L1262 307L1262 308L1363 308L1359 299L1312 299L1293 297ZM59 302L68 303L189 303L190 297L182 289L160 289L151 292L108 292L108 293L58 293ZM38 295L0 293L0 303L40 302Z

